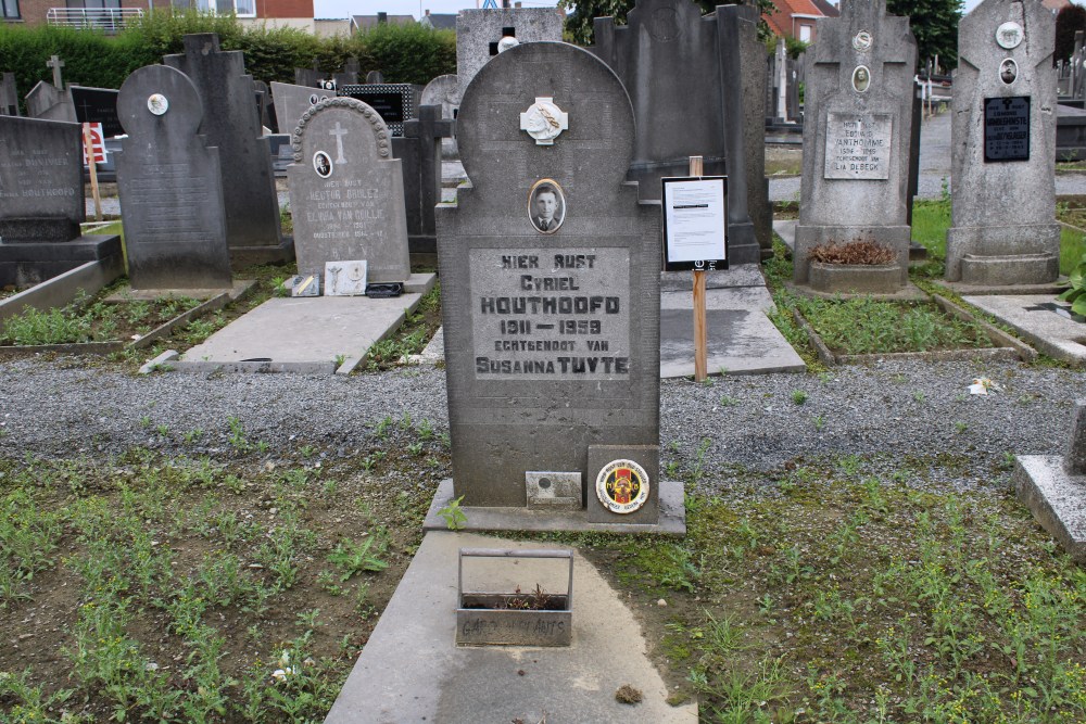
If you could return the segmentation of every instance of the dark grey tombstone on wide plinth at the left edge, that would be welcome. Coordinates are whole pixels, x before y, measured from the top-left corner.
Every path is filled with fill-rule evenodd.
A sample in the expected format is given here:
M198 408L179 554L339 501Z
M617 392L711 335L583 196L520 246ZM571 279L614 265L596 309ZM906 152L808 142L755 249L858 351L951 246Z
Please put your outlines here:
M119 236L79 236L81 143L78 124L0 116L0 287L119 256Z

